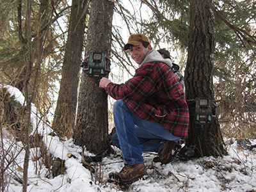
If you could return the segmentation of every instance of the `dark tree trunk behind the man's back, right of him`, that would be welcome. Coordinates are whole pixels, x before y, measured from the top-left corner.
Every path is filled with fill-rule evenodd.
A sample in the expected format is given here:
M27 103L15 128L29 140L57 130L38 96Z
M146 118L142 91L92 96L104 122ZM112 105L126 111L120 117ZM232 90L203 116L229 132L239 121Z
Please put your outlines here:
M189 104L189 136L187 146L196 145L195 156L221 156L226 153L220 124L195 124L195 99L214 99L212 53L214 51L214 20L204 0L190 1L188 61L185 70L186 99Z

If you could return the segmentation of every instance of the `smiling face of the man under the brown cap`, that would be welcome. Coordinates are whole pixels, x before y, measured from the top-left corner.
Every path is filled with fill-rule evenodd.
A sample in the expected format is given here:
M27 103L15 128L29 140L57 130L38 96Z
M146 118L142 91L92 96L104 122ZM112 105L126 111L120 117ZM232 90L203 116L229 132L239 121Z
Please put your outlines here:
M145 59L146 54L151 50L151 45L148 45L147 48L145 48L142 43L138 46L130 46L129 47L129 53L132 57L132 59L138 63L141 64L142 61Z

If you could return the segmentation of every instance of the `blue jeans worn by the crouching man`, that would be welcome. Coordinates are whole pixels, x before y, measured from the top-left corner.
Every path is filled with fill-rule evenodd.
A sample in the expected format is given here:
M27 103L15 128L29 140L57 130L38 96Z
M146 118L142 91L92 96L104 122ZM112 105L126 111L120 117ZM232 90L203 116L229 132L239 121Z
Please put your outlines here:
M116 134L113 134L112 141L122 150L125 164L144 163L142 152L159 152L166 140L180 140L161 124L135 116L123 100L116 100L113 115Z

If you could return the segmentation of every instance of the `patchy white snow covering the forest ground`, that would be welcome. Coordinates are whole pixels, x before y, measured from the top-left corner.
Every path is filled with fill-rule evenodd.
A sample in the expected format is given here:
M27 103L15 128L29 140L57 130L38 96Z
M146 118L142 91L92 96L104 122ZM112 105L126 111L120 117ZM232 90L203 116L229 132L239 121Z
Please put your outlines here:
M19 90L8 86L8 92L24 102ZM52 131L51 128L44 122L36 122L36 109L35 106L32 107L31 120L33 120L34 128L37 125L37 131L44 136L44 142L49 152L54 157L65 160L66 171L63 175L52 177L49 170L42 163L42 158L36 158L40 151L39 148L31 148L28 191L253 192L256 190L255 148L243 147L234 138L225 138L228 156L216 159L213 157L202 157L189 161L175 159L173 163L161 165L152 162L156 154L145 153L143 157L150 177L146 180L138 180L125 188L120 188L120 186L106 182L110 172L122 169L123 160L120 156L111 155L104 157L102 163L93 163L92 167L95 169L95 173L91 173L80 163L82 148L74 145L72 139L61 141L57 136L49 136ZM8 136L8 132L4 132L3 136L3 148L8 151L8 154L12 154L8 158L17 156L15 163L9 166L8 171L5 172L5 181L8 184L5 191L22 191L20 180L22 180L25 154L22 150L22 143L14 142L12 137ZM256 140L248 141L250 141L251 146L256 144ZM121 154L118 148L113 148L117 154ZM77 159L74 157L68 158L68 152L71 152ZM3 153L1 152L1 154ZM86 156L93 155L86 150L84 154Z

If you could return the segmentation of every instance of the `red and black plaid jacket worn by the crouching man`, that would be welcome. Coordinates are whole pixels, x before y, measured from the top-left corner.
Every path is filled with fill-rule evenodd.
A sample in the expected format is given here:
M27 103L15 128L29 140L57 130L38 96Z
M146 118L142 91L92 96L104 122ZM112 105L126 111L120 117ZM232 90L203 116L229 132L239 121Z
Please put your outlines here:
M175 136L188 137L189 110L184 91L165 63L144 63L125 83L109 83L106 92L124 100L134 115L163 125Z

